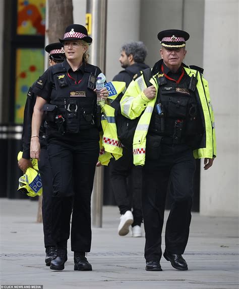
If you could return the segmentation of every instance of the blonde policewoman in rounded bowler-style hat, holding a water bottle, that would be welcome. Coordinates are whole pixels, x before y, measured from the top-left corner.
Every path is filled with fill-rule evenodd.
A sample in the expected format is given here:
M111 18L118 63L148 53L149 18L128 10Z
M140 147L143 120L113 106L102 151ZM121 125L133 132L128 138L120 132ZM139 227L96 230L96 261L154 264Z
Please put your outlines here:
M38 136L44 112L53 174L52 239L57 248L50 268L64 269L73 208L74 270L92 270L85 253L91 247L90 202L99 155L95 79L101 70L88 64L87 51L92 38L84 26L68 26L60 41L64 44L66 60L49 67L34 88L38 97L32 118L31 157L39 159ZM100 95L106 99L107 89L102 88Z

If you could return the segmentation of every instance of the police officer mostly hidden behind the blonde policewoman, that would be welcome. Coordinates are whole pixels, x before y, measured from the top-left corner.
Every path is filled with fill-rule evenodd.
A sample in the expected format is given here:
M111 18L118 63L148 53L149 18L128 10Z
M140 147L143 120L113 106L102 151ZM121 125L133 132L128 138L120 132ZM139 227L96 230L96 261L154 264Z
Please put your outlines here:
M49 64L54 65L59 62L63 62L65 59L65 52L62 43L52 43L45 47L45 51L49 53ZM24 110L24 122L22 133L22 145L23 155L18 162L18 166L25 173L28 167L32 167L30 161L30 142L31 142L31 121L33 108L36 102L36 95L32 92L35 82L29 88L27 94L27 101ZM51 194L52 194L52 175L48 162L48 155L46 150L46 141L44 136L44 126L42 124L40 130L40 144L41 144L41 156L38 162L38 168L41 175L43 185L43 197L42 197L42 220L44 231L44 244L45 244L45 263L50 265L51 259L55 251L54 242L51 239Z

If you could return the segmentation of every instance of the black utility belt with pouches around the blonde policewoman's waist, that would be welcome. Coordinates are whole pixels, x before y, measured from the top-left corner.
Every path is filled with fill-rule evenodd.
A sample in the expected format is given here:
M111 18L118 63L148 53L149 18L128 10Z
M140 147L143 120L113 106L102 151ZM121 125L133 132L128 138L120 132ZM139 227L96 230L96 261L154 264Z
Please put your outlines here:
M43 106L45 127L57 130L60 134L78 133L80 129L96 127L92 106L80 107L77 100Z

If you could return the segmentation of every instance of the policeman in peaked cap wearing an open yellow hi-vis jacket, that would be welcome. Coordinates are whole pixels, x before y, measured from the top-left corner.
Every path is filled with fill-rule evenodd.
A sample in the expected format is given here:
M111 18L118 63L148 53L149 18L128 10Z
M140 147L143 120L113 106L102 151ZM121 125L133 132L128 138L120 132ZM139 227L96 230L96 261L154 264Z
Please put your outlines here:
M164 258L187 270L185 251L191 222L195 158L204 169L216 156L214 115L203 69L187 67L189 34L165 30L158 34L161 60L151 74L139 73L121 100L122 114L140 116L134 140L135 165L142 165L142 209L147 271L161 271L161 233L169 185L173 200L165 229ZM169 181L170 180L170 181Z

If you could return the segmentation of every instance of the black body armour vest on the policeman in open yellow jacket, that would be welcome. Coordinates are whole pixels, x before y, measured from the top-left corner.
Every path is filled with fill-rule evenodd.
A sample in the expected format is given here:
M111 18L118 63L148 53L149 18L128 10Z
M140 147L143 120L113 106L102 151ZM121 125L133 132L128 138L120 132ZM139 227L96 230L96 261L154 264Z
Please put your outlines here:
M185 74L180 83L158 75L157 99L149 125L149 133L172 137L174 143L187 142L200 136L202 121L190 77ZM197 138L197 137L196 137Z

